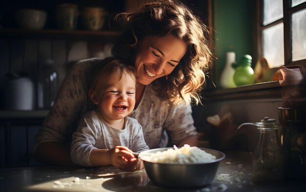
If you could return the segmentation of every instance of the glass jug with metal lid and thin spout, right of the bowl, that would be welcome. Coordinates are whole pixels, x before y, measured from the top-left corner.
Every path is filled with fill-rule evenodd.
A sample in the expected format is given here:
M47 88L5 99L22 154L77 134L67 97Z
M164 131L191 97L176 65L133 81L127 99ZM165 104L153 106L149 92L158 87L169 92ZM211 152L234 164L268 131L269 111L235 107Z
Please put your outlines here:
M275 119L264 117L261 122L244 123L256 126L259 141L253 155L254 182L268 182L284 178L284 163L281 144L278 137L279 123Z

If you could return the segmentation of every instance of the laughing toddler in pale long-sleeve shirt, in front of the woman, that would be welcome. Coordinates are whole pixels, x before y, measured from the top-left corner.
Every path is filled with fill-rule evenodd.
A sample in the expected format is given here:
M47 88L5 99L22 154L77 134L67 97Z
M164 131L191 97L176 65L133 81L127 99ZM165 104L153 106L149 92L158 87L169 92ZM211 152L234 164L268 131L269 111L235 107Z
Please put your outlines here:
M87 112L72 135L71 160L82 166L112 165L122 171L143 168L132 154L149 149L141 125L128 117L135 106L136 71L114 57L94 68L89 99L96 109Z

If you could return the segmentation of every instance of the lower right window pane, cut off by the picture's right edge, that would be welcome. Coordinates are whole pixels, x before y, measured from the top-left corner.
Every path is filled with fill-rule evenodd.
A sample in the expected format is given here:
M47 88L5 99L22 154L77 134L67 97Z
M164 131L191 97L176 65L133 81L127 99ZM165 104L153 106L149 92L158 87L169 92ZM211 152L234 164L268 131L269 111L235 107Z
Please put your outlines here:
M306 59L306 9L292 14L292 61Z

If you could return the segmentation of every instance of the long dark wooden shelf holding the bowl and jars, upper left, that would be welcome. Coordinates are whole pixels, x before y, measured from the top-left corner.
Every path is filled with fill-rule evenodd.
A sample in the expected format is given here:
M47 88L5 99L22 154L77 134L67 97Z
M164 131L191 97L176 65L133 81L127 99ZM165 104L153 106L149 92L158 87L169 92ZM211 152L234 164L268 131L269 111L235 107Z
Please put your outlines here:
M6 38L47 38L47 39L78 39L78 40L112 40L120 34L118 31L86 31L59 29L22 29L0 28L0 37Z

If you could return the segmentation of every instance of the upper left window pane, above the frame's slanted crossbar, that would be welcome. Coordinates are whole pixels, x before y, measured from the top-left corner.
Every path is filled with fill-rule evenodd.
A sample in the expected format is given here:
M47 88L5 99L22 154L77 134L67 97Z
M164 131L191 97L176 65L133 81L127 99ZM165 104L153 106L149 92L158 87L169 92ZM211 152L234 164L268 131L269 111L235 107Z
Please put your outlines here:
M283 17L283 0L263 0L263 25Z

